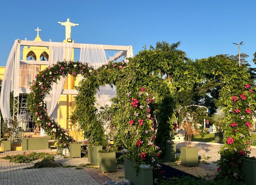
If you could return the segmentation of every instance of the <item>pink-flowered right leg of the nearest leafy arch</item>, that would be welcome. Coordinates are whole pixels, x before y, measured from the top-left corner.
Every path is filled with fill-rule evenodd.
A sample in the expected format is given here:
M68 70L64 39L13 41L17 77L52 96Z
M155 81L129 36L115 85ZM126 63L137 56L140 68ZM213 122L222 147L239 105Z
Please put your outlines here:
M240 172L244 156L250 154L252 113L254 110L254 91L249 84L244 85L241 94L230 98L226 107L224 130L224 146L221 147L217 168L220 177L241 181L244 174Z

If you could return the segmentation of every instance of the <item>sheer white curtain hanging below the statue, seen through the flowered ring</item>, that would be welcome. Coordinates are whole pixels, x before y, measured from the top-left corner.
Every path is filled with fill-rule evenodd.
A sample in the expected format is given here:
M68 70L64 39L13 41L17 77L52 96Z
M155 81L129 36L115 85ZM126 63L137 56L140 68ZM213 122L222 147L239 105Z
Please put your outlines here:
M49 61L50 65L56 64L58 61L71 60L73 43L51 42L49 47ZM49 95L46 95L46 108L49 116L57 122L58 119L58 101L61 91L65 84L66 78L61 77L57 83L52 85L52 90ZM40 136L44 136L44 130L41 129Z

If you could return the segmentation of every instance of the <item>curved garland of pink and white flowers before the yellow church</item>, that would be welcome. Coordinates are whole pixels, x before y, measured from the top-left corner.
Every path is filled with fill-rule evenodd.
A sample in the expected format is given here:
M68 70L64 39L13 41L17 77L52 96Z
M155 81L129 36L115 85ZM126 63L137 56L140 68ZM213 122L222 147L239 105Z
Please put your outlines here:
M118 64L118 63L117 63ZM111 64L113 67L121 69L123 65ZM120 67L121 66L121 67ZM102 66L105 68L105 66ZM28 108L31 111L37 125L44 129L45 133L56 141L55 145L60 148L67 148L69 143L74 140L65 132L60 125L47 114L45 95L52 90L52 84L60 80L61 77L67 77L68 74L76 77L81 74L88 77L99 73L99 69L88 66L87 63L73 61L57 62L52 66L48 66L31 82L31 93L28 96Z

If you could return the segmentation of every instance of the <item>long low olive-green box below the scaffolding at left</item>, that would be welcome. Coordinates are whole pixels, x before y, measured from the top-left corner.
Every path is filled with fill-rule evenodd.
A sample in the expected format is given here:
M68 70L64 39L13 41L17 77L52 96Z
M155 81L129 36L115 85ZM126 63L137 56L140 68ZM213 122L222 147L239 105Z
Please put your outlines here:
M23 138L22 150L46 150L49 148L48 138Z

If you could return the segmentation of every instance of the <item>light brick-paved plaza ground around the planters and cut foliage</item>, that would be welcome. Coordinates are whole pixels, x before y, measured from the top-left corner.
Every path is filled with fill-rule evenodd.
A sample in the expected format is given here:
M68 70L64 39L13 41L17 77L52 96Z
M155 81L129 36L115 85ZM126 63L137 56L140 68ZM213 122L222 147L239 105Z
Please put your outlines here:
M177 142L176 148L185 146L184 143ZM217 173L217 166L212 163L220 158L218 151L220 150L220 145L202 144L202 143L192 143L191 146L198 148L198 155L205 157L209 156L210 159L204 159L208 165L199 164L199 166L181 166L180 162L175 163L164 163L165 165L172 166L176 169L184 171L186 173L204 177L207 175L207 179L213 179ZM54 153L51 150L27 150L25 154L29 154L32 151L36 152L47 152ZM0 153L0 157L6 155L16 155L23 154L24 151L7 151ZM180 155L180 154L177 154ZM251 156L256 156L256 149L252 149ZM69 168L40 168L40 169L24 169L25 167L33 166L33 163L28 164L15 164L10 163L9 160L0 159L0 184L28 184L28 185L64 185L64 184L83 184L83 185L99 185L107 180L121 181L124 179L124 166L117 165L116 172L100 173L99 166L86 166L89 164L88 158L64 158L56 159L56 162L61 162L63 166L79 166L79 168L69 167Z

